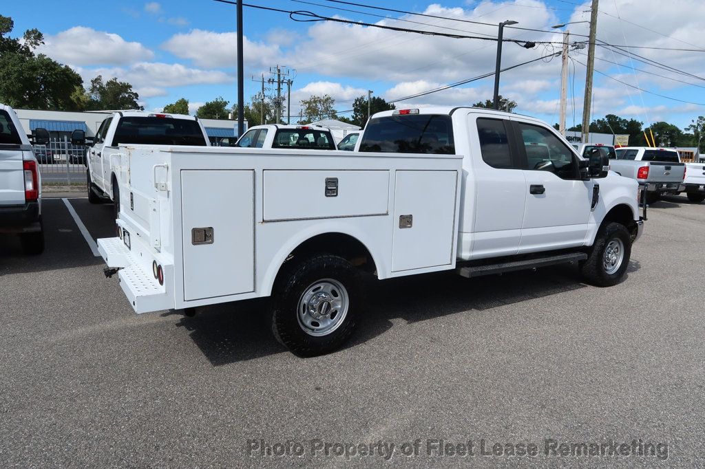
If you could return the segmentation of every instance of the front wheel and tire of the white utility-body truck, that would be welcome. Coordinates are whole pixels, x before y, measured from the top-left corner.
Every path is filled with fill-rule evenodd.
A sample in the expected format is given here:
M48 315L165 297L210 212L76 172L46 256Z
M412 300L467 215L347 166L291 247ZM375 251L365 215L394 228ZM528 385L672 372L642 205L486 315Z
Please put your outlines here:
M624 278L632 256L632 237L625 225L600 227L587 260L581 265L584 279L596 287L612 287Z

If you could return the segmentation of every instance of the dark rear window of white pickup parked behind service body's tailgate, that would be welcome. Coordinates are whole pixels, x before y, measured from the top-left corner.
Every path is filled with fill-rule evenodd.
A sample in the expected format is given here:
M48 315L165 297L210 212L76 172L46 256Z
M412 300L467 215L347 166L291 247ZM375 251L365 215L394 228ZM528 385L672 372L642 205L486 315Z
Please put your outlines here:
M113 144L206 146L206 139L195 120L124 117L118 123Z

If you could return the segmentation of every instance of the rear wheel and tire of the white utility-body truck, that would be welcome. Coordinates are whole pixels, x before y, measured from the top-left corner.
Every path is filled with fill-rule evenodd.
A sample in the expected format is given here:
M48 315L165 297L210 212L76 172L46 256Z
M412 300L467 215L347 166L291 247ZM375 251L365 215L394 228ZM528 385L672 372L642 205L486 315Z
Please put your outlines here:
M274 337L298 356L336 351L353 334L363 308L359 270L330 254L289 262L272 295Z

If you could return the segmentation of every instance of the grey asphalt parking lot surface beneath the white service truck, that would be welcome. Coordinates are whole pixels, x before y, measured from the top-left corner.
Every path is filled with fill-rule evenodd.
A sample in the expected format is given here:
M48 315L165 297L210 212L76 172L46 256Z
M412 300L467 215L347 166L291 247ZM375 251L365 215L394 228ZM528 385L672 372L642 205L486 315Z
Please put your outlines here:
M68 202L111 236L111 206ZM355 339L306 359L271 337L266 301L135 315L63 199L44 223L42 256L0 238L1 467L705 465L705 204L654 204L610 289L568 266L371 281ZM429 456L435 440L455 449ZM544 451L635 440L660 452Z

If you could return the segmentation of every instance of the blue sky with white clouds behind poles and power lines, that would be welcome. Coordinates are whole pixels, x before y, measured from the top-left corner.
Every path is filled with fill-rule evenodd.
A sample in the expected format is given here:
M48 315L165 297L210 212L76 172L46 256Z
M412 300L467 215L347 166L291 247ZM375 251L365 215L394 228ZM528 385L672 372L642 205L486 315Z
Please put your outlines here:
M443 18L329 0L246 3L475 37L496 37L498 23L515 20L516 27L530 30L506 27L505 38L517 39L521 44L546 44L532 49L513 42L503 44L503 68L539 60L502 73L500 93L517 102L515 112L534 115L551 124L558 122L561 69L560 56L552 55L560 51L564 29L570 30L571 43L581 42L587 39L589 25L576 23L559 29L551 26L589 20L591 3L350 1ZM82 75L85 85L96 75L130 82L147 110L161 111L164 105L181 97L190 101L191 112L218 96L231 105L236 101L233 5L214 0L72 0L70 5L37 0L4 2L0 13L15 21L14 36L32 27L42 31L45 44L38 52L70 65ZM629 58L611 47L596 48L592 117L613 113L646 125L666 120L685 127L692 119L705 115L703 31L702 0L672 0L668 6L662 0L601 0L598 41L639 46L640 49L626 50L641 57ZM367 94L368 89L388 101L405 98L493 72L496 59L494 41L418 35L330 21L302 22L290 19L288 13L248 7L243 13L243 33L245 101L259 92L262 74L266 80L272 77L270 68L280 65L293 80L292 115L298 114L299 101L312 94L329 94L336 99L336 110L349 111L355 97ZM570 51L568 127L582 120L586 53L587 49ZM658 64L644 63L647 60ZM400 101L396 106L467 106L491 99L493 80L494 77L487 77ZM267 85L266 93L276 94L276 89Z

